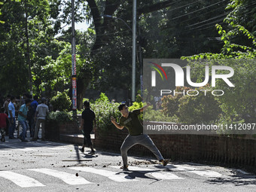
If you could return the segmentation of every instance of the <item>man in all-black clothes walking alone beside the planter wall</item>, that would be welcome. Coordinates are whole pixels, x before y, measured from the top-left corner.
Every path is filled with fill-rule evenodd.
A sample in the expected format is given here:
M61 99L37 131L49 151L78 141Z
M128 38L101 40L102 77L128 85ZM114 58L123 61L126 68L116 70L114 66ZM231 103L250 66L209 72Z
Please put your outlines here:
M94 122L94 130L96 130L96 117L95 113L90 109L90 102L84 102L84 111L82 113L82 120L80 130L84 129L84 145L80 149L81 152L84 153L84 147L88 145L91 149L89 154L95 154L93 150L93 143L90 139L90 133L93 130L93 122Z

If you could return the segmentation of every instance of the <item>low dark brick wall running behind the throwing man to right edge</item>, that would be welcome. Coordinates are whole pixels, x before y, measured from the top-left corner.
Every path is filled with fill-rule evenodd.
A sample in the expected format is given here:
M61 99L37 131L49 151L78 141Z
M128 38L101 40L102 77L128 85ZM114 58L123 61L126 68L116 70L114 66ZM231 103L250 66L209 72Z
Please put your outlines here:
M109 131L100 136L95 133L94 145L108 151L120 153L120 146L128 132ZM256 140L230 138L227 136L201 135L150 135L163 157L172 160L227 163L230 165L256 167ZM129 154L152 156L151 151L142 145L135 145Z

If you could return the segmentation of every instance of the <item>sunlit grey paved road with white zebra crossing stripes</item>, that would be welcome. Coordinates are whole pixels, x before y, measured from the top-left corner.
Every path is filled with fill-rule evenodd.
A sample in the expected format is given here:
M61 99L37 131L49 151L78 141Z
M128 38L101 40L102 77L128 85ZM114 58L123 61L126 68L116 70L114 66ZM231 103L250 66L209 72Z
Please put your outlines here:
M120 154L82 154L58 142L0 143L0 191L255 191L256 176L238 169L169 163Z

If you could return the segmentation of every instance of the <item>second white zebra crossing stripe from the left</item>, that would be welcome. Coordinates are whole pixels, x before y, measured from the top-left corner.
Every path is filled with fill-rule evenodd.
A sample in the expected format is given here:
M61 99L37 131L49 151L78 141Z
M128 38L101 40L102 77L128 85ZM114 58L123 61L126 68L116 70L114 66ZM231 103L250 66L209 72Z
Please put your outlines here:
M87 181L86 179L76 176L75 174L70 174L67 172L59 172L53 169L28 169L30 171L34 172L41 172L46 175L53 176L55 178L59 178L62 181L66 182L66 184L90 184L90 181Z

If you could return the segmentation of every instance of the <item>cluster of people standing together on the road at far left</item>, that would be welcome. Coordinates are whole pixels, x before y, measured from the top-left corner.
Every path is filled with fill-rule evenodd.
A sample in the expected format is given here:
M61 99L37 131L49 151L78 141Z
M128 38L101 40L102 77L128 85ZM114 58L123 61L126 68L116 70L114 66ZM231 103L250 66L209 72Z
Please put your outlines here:
M33 101L24 95L23 104L20 108L16 106L17 100L14 96L8 96L5 100L4 106L0 111L0 129L2 135L2 142L5 142L5 136L9 139L20 139L22 142L28 142L26 139L27 130L29 130L32 141L38 139L38 132L41 125L41 139L45 140L45 119L49 108L45 105L46 99L41 99L41 104L38 104L38 96L34 96ZM18 125L16 126L16 110L18 109ZM16 129L22 127L22 132L17 138L14 137Z

